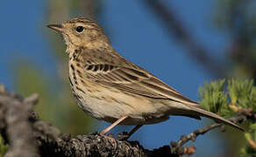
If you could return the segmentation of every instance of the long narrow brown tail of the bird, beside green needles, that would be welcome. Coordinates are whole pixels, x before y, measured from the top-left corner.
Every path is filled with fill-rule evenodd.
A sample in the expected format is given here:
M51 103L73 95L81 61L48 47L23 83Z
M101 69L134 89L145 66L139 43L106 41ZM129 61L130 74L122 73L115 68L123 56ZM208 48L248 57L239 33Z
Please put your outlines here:
M189 108L190 108L190 110L194 111L196 113L196 115L198 115L198 116L207 117L207 118L215 120L217 123L223 123L225 125L238 128L240 131L243 131L243 132L245 131L245 129L242 128L241 126L236 125L235 123L231 122L230 120L224 119L223 117L217 115L216 113L210 113L209 111L206 111L197 106L189 106Z

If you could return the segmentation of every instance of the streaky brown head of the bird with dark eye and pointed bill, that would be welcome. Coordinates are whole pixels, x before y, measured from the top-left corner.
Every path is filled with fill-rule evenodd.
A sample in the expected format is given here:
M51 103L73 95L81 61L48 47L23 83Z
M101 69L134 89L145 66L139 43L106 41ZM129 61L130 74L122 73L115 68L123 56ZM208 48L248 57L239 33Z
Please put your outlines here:
M72 47L110 44L103 29L96 22L86 17L75 17L63 24L49 24L47 27L54 31L60 31L68 48L71 49Z

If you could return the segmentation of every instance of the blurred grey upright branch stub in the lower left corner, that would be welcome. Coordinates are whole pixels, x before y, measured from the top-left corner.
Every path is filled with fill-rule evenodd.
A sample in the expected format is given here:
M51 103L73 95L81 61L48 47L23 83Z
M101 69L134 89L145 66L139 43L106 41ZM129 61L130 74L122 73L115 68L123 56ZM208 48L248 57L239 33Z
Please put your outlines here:
M0 84L0 132L11 145L6 157L38 156L31 124L27 120L34 99L37 99L37 95L21 99L18 95L6 92Z

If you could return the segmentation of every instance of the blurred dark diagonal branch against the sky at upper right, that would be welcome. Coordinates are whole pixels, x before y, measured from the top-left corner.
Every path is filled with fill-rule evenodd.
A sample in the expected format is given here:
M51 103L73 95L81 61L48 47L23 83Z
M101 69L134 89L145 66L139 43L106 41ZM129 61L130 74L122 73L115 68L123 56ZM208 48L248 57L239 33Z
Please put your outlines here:
M167 33L174 35L184 45L188 55L194 58L197 63L203 65L203 68L207 68L207 71L211 74L213 73L219 78L226 77L224 67L220 66L219 61L210 56L211 53L202 44L198 44L196 38L193 38L188 33L188 30L185 29L181 20L176 16L169 4L167 5L156 0L144 0L143 2L162 20L164 26L167 28Z

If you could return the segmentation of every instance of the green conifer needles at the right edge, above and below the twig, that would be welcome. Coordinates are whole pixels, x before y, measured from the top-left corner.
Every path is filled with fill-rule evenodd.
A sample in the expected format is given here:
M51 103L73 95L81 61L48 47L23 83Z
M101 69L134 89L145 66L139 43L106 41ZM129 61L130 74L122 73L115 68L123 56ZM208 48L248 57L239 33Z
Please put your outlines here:
M256 112L256 86L253 86L253 80L232 78L204 83L199 88L199 94L206 110L224 117L235 116L241 109ZM248 145L241 148L240 156L256 156L256 123L251 120L247 125L250 128L245 133Z

